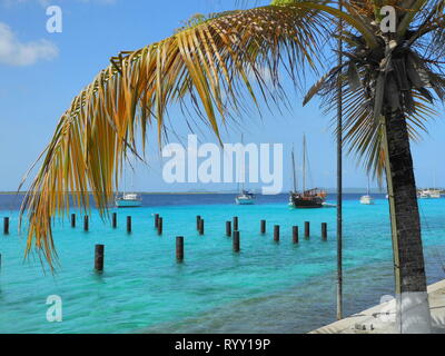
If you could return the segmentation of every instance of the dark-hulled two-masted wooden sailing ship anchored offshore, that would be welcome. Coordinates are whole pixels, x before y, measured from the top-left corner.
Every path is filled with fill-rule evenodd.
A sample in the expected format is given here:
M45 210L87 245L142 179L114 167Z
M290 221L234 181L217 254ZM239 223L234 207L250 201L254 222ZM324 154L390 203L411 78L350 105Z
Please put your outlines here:
M293 149L293 168L294 168L294 191L290 192L289 206L296 209L323 208L326 200L326 191L318 188L306 189L306 164L307 164L307 145L306 135L303 136L303 190L297 191L296 171L295 171L295 154Z

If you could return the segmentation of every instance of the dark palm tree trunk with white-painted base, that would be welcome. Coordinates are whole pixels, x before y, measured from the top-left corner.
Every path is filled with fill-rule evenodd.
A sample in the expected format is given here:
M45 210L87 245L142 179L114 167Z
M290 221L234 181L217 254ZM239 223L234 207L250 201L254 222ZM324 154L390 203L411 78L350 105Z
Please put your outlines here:
M397 300L396 327L400 333L429 333L421 219L408 130L400 111L387 112L384 119Z

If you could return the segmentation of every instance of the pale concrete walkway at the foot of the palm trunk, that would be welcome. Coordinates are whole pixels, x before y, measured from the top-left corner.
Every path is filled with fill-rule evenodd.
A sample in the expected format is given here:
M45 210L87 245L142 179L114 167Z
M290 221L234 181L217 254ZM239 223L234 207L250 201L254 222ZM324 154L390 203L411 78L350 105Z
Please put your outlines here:
M428 287L428 299L433 333L445 334L445 280ZM393 334L395 330L395 300L393 299L309 334Z

